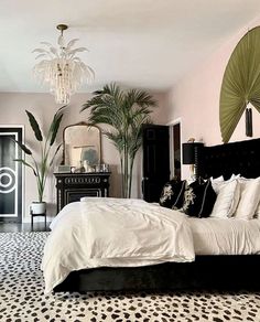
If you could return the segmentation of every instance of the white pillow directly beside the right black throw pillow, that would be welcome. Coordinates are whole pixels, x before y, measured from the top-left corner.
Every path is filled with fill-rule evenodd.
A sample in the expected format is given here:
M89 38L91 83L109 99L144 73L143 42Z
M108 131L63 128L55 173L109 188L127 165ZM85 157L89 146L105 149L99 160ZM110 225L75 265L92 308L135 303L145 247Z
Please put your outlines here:
M217 194L210 217L229 218L235 213L240 196L240 186L237 180L224 182Z

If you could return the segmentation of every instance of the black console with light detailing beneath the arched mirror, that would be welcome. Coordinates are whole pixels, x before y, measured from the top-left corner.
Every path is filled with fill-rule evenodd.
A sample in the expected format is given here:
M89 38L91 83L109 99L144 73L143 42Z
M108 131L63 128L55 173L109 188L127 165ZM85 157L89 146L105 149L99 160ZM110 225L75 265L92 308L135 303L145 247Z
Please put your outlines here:
M57 213L83 196L108 196L110 172L54 173L57 190Z

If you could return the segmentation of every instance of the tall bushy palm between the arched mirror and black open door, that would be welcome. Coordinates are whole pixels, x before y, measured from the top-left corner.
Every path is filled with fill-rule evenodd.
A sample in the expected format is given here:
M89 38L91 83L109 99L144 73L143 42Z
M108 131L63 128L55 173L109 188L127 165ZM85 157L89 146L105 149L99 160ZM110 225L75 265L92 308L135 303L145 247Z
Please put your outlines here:
M123 92L116 84L106 85L83 105L90 108L90 125L106 124L102 132L112 141L120 157L122 197L131 197L133 161L142 144L142 125L151 122L149 107L155 100L144 90Z

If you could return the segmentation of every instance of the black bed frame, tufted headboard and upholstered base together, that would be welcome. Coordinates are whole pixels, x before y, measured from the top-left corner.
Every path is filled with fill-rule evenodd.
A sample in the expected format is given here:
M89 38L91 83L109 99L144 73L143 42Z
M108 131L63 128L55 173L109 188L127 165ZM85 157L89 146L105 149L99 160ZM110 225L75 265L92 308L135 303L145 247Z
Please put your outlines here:
M196 173L203 178L240 173L260 176L260 139L202 147ZM54 291L119 291L178 289L260 290L260 256L196 256L194 262L166 262L134 268L73 271Z

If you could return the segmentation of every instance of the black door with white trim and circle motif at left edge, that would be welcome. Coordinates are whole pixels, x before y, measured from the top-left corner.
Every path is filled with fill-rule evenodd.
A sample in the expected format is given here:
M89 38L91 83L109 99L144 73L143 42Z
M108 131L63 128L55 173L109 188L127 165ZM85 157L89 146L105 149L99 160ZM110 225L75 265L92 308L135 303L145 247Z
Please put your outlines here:
M0 222L22 221L22 153L13 140L22 142L22 127L0 126Z

